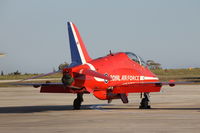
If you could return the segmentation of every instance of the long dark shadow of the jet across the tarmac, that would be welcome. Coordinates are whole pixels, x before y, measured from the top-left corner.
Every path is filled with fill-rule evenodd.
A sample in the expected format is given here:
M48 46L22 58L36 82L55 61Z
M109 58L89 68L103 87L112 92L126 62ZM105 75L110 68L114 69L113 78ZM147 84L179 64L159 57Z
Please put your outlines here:
M91 108L91 106L98 106L98 108ZM139 108L131 108L131 107L115 107L115 105L102 105L102 104L95 104L95 105L82 105L80 110L143 110ZM151 108L147 110L197 110L200 112L200 108ZM44 105L44 106L15 106L15 107L0 107L0 114L3 113L36 113L36 112L47 112L47 111L77 111L73 110L72 105Z

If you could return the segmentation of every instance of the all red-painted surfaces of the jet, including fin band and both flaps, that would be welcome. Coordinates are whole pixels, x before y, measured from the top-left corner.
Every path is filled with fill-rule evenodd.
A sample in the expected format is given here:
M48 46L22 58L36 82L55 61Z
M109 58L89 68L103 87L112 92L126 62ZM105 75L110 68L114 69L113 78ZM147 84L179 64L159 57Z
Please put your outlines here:
M87 63L72 68L66 68L63 70L63 75L67 73L74 78L74 82L71 86L84 89L73 89L71 87L64 87L63 85L50 85L42 86L41 92L90 92L98 99L108 100L119 98L120 93L160 91L162 85L156 85L156 82L159 82L158 79L142 80L142 77L156 78L156 76L147 67L131 60L127 54L123 52L112 53L92 60L87 53L78 29L74 24L73 27L80 43L77 45L80 45ZM108 78L104 76L105 74L108 75ZM104 80L100 81L102 79Z

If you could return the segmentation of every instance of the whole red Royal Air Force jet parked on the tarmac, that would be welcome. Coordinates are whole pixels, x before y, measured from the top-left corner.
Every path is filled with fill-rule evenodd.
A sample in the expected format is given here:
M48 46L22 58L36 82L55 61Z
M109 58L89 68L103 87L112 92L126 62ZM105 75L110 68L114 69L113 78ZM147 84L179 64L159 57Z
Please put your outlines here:
M128 103L128 93L141 93L141 109L151 108L150 92L160 92L162 85L174 86L175 82L160 82L147 67L143 59L131 52L111 53L91 59L77 27L68 22L71 64L64 68L62 83L31 83L41 87L43 93L76 93L74 109L80 109L83 94L92 93L100 100L121 99ZM49 75L36 76L33 78Z

